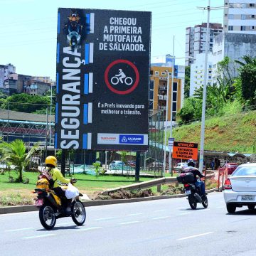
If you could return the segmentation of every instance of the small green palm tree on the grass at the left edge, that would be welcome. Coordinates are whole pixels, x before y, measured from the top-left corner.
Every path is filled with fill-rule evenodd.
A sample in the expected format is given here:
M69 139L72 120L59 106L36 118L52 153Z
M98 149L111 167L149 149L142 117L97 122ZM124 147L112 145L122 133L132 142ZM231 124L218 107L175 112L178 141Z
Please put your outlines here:
M27 153L26 146L21 139L16 139L14 142L2 142L0 144L2 159L9 161L16 168L18 173L18 181L22 182L22 172L28 165L28 162L33 153L38 149L38 144L35 144Z

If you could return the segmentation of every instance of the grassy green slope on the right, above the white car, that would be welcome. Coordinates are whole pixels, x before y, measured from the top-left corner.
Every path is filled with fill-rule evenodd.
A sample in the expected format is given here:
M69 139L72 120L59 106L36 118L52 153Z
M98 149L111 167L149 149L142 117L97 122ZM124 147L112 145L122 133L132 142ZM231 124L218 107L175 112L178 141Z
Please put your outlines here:
M201 122L174 128L173 137L178 142L198 143L200 148ZM204 149L256 153L256 111L206 119Z

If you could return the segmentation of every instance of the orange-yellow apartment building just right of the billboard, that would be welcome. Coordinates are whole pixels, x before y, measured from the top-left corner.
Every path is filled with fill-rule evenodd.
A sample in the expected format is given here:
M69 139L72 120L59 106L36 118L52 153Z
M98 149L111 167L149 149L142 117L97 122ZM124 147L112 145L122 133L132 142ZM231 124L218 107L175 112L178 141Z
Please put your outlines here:
M169 74L169 79L168 79ZM150 84L149 84L149 110L150 114L155 114L161 110L166 111L166 102L169 97L168 121L171 120L171 104L173 121L176 120L176 113L181 110L182 97L182 80L181 78L173 79L171 86L172 68L151 66ZM169 82L169 95L167 95L167 86ZM165 116L165 114L164 114Z

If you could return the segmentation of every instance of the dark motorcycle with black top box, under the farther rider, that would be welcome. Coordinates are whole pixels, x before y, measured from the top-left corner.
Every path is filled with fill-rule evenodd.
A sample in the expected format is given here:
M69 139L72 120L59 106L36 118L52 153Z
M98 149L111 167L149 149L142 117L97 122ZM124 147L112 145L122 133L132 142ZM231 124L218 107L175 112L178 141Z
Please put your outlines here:
M208 207L208 198L202 198L201 188L196 187L193 174L187 172L177 177L178 183L182 183L184 186L184 193L188 198L189 206L193 210L196 210L197 204L202 203L204 208Z

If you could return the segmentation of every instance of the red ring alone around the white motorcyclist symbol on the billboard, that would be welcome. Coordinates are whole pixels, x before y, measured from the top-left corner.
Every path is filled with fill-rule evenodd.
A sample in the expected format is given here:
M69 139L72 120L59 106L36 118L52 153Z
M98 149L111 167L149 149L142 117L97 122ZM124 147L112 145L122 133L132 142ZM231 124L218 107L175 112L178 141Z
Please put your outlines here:
M128 90L124 90L124 91L117 90L114 87L112 87L112 85L110 85L110 81L108 80L108 74L110 72L110 69L114 65L117 65L119 63L126 63L126 64L130 65L132 67L132 69L134 70L134 73L136 75L136 79L135 79L134 85L132 85L132 87L130 87ZM130 92L132 92L137 87L137 85L139 84L139 70L137 69L136 65L134 65L134 63L130 62L129 60L114 60L112 63L110 63L110 65L107 66L107 69L105 70L104 78L105 78L105 82L106 82L107 87L112 92L117 93L119 95L127 95Z

